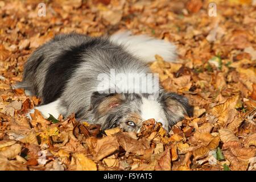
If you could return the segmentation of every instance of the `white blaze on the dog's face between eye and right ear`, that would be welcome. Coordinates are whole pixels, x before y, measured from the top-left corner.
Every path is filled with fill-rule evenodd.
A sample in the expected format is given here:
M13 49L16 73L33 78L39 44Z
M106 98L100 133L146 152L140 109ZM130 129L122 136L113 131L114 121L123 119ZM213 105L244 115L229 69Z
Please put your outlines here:
M141 117L143 120L154 118L168 131L168 121L159 102L142 97Z

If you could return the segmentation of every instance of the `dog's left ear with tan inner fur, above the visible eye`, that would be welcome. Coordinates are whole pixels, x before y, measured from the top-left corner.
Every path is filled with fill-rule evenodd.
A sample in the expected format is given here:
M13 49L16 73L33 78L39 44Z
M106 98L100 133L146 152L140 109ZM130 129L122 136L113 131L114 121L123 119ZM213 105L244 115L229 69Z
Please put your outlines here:
M118 107L125 100L123 94L93 92L90 97L90 109L97 115L104 115Z

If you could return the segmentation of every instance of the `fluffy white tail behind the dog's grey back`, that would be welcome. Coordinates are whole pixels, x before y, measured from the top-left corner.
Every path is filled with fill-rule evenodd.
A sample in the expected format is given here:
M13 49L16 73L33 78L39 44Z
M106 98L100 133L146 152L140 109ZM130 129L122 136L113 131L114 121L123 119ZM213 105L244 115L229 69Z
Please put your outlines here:
M165 40L147 35L131 35L130 31L122 31L110 36L110 40L121 44L126 50L140 57L146 63L154 61L155 55L160 55L165 61L175 62L176 46Z

